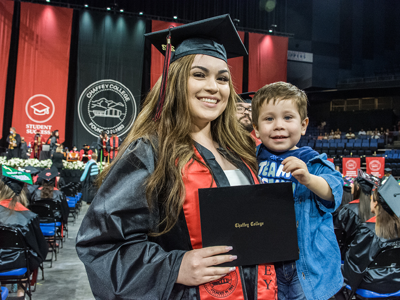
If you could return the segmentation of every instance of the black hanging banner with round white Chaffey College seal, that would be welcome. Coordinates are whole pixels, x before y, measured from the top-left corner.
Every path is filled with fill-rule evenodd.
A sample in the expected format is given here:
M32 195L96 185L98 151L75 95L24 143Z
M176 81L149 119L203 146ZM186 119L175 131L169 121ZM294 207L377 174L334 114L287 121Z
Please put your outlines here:
M92 144L104 130L125 136L140 104L145 21L81 11L73 142Z

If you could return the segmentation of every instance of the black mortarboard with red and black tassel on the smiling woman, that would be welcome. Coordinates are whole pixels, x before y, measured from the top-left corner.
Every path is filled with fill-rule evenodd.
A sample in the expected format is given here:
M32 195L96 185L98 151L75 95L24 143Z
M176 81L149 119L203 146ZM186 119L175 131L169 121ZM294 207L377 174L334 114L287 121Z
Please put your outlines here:
M229 14L177 27L170 26L168 29L144 35L165 56L154 120L161 114L170 62L189 54L205 54L224 61L227 61L227 58L247 55Z

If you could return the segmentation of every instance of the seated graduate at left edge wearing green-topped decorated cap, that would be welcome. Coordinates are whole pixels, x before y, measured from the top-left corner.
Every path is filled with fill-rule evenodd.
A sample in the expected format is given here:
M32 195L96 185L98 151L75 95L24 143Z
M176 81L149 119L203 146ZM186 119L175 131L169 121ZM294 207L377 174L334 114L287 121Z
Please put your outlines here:
M41 233L37 214L26 208L27 199L23 190L25 182L32 183L30 174L2 166L0 224L15 227L22 233L28 247L29 269L34 270L45 259L48 244ZM3 251L0 249L0 272L26 266L23 253L6 255ZM17 296L23 294L23 288L18 285Z

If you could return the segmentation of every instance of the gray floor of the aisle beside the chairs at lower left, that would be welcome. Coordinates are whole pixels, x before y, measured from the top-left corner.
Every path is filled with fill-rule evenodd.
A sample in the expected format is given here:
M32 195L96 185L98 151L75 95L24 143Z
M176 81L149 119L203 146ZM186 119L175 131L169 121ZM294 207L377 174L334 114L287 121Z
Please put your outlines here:
M88 206L83 202L76 223L68 223L68 238L57 253L57 260L53 260L52 267L50 268L50 262L44 262L44 280L41 280L41 271L39 270L36 291L32 293L32 300L94 299L83 263L79 260L75 250L75 237ZM14 295L15 293L9 294L9 296Z

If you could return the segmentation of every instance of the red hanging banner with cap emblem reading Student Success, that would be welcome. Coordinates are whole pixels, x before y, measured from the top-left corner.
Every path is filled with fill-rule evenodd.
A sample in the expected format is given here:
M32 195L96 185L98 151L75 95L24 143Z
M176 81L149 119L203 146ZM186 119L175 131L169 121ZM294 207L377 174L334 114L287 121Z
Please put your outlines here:
M26 140L35 129L64 140L72 12L21 2L12 126Z

